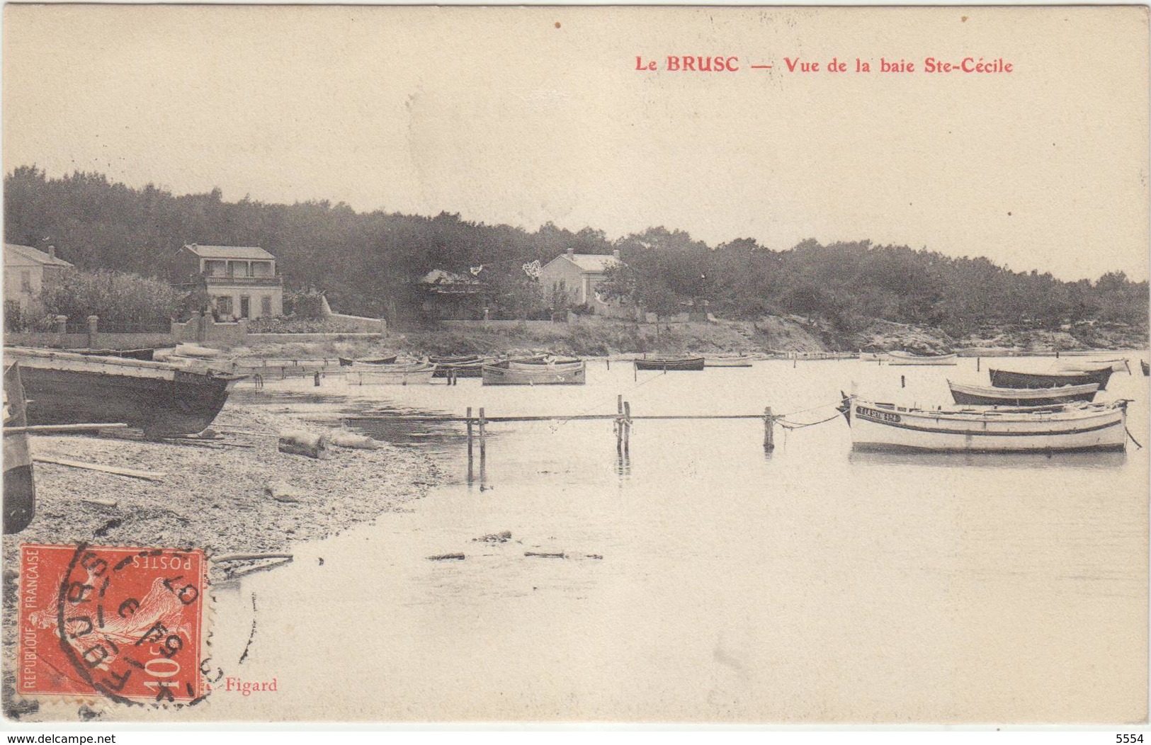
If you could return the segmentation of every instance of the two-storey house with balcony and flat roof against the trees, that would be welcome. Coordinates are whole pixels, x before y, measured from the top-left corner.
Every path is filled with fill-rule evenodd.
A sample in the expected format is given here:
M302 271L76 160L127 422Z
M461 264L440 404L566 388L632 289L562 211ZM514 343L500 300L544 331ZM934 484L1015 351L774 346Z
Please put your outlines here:
M283 278L276 257L259 246L183 246L177 273L192 275L209 298L220 320L283 316Z

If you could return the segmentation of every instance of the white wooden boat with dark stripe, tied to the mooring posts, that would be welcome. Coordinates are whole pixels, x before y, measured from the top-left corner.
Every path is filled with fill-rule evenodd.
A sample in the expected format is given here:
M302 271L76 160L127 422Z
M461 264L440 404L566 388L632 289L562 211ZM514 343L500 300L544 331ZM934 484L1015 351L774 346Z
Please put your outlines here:
M845 396L855 450L1052 453L1122 450L1127 402L917 409Z

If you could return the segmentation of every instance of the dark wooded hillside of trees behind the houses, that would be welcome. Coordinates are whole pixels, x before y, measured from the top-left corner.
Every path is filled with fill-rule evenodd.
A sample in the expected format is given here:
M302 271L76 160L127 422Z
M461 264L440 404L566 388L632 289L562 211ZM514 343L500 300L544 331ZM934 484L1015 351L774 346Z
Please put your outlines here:
M173 195L109 182L97 173L49 178L35 166L5 176L5 240L46 249L81 269L173 278L185 243L259 245L276 254L288 295L321 290L341 312L418 314L416 282L441 268L478 276L496 314L523 317L548 298L521 268L567 249L619 250L624 266L603 292L658 313L707 299L712 313L757 318L796 313L844 330L871 319L942 327L961 334L985 325L1058 327L1068 321L1145 326L1148 282L1122 272L1065 282L1014 272L984 257L947 257L869 241L786 250L737 238L709 246L683 230L654 227L609 240L602 230L551 223L528 231L442 212L435 216L357 212L343 203L224 202L219 189Z

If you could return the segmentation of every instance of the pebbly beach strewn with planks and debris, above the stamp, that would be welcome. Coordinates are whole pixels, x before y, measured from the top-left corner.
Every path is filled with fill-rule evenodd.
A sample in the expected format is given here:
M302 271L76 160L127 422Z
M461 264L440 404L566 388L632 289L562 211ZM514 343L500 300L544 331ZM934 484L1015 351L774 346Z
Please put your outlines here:
M296 394L299 395L299 394ZM300 396L303 397L303 396ZM291 552L406 505L442 481L425 453L379 442L375 450L330 447L326 458L280 453L282 429L313 433L334 427L306 415L270 411L233 395L212 424L219 443L184 444L99 436L33 436L35 456L162 472L161 481L36 463L36 516L3 540L5 715L20 721L39 705L15 692L18 547L21 543L86 542L104 546L199 548L213 555ZM285 484L294 501L265 491ZM99 500L106 503L89 502ZM230 577L274 567L266 561L208 562L208 577ZM83 706L81 712L83 713Z

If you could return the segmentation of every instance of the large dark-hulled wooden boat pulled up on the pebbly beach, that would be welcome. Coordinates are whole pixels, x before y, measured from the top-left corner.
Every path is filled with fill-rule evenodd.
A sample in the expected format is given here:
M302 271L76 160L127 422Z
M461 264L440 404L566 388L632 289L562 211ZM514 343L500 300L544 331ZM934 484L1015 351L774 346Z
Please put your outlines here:
M173 363L6 347L20 364L28 424L124 423L150 438L205 429L243 375Z

